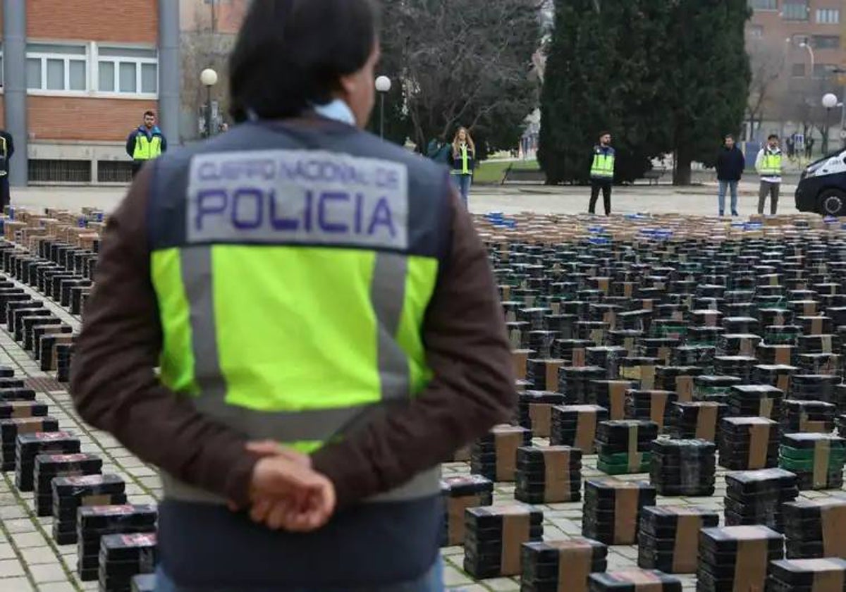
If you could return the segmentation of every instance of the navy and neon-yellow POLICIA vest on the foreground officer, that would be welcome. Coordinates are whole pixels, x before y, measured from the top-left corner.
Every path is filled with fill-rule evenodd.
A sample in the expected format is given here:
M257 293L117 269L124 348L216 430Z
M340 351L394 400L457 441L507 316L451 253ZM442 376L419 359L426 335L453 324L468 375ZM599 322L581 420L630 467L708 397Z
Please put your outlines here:
M237 150L157 168L161 380L250 439L312 452L431 380L422 326L448 188L413 157L283 150L279 134L262 151L250 134L227 135ZM431 469L377 499L437 496L439 479ZM220 502L162 480L165 496Z

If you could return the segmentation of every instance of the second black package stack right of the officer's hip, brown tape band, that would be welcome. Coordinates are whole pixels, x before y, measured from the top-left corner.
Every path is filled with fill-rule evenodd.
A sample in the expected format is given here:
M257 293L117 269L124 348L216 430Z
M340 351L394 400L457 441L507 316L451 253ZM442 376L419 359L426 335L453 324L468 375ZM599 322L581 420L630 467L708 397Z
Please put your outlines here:
M520 546L543 539L543 513L522 504L471 507L464 526L464 571L475 579L519 575Z

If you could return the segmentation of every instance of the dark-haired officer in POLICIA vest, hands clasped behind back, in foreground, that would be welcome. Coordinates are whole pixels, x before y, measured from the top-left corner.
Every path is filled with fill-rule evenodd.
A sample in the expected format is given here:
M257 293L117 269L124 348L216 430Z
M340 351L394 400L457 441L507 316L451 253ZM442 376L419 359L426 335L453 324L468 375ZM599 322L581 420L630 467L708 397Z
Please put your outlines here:
M439 465L514 375L449 171L362 131L378 60L370 0L252 3L239 125L107 222L72 392L162 469L157 592L443 589Z

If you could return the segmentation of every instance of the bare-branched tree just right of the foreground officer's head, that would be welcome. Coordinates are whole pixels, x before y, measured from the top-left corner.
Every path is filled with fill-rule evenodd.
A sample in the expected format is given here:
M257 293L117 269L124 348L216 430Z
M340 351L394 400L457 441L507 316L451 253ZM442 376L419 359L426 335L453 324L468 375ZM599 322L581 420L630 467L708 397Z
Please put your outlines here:
M392 129L418 149L463 125L484 149L517 144L536 106L538 0L389 0L380 73L396 83ZM481 140L481 141L480 141Z

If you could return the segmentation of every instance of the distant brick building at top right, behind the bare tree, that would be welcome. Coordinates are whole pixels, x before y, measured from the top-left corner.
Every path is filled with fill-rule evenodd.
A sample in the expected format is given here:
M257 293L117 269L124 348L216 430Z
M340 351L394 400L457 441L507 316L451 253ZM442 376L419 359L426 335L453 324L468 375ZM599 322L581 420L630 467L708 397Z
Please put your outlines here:
M749 5L746 49L752 58L753 97L761 79L772 79L757 135L805 131L809 122L824 127L829 118L836 138L840 111L826 113L820 102L827 92L843 98L846 79L838 70L846 69L846 1L749 0ZM813 133L819 139L818 131Z

